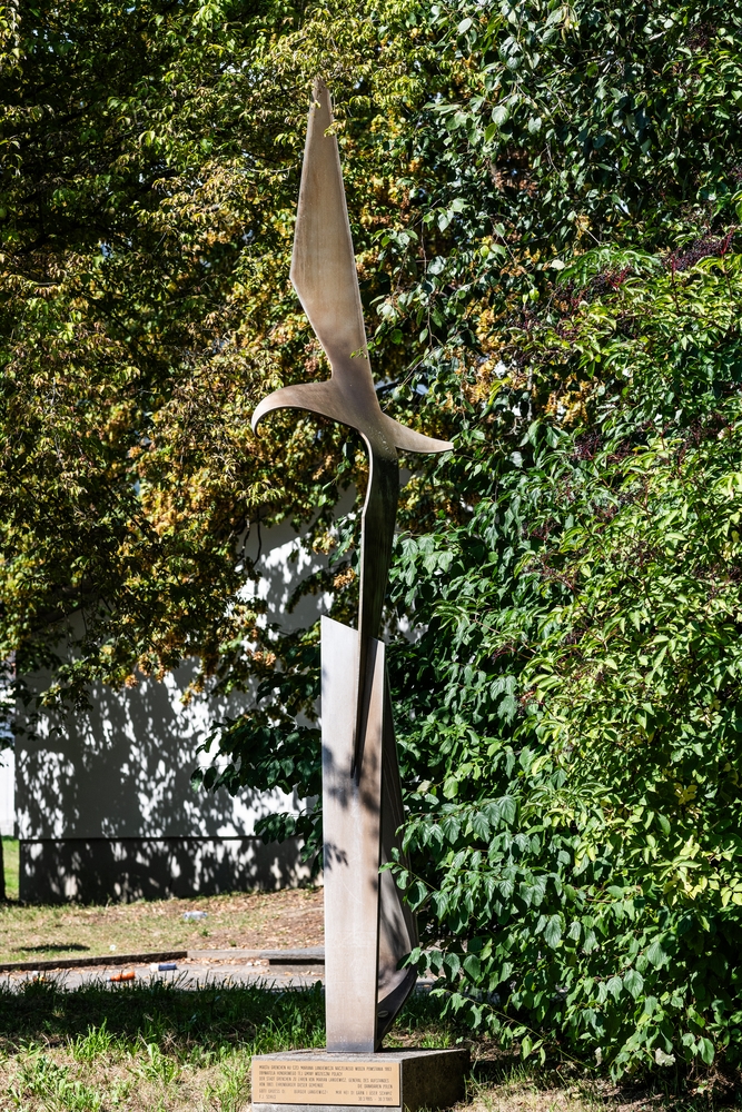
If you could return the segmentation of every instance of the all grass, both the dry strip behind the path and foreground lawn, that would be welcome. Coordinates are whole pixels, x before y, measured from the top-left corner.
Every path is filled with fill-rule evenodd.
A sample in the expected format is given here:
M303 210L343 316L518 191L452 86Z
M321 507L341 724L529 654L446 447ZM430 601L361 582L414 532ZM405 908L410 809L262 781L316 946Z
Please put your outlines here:
M3 848L12 870L12 841ZM111 946L131 953L317 945L321 895L306 888L106 907L10 902L0 905L0 961L107 954ZM208 917L187 923L186 911ZM321 1046L324 1039L318 987L100 981L68 992L53 976L17 993L0 985L0 1112L247 1112L253 1053ZM386 1045L461 1040L471 1032L442 1020L436 1001L415 995ZM468 1044L474 1068L456 1112L742 1112L741 1091L703 1079L679 1094L671 1071L660 1072L654 1088L613 1086L570 1065L534 1072L487 1040Z

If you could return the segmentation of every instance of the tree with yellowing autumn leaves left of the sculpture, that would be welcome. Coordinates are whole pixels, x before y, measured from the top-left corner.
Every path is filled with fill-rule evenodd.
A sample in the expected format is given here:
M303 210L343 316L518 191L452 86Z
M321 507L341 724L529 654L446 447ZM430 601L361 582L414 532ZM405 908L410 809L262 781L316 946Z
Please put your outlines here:
M47 703L185 655L202 664L196 689L261 676L269 646L238 596L238 540L287 507L325 507L321 534L338 464L340 481L355 466L313 423L284 423L286 469L249 431L266 383L324 374L288 259L325 13L249 0L3 11L2 652L21 673L51 667ZM370 222L396 198L366 136L383 119L367 86L402 102L415 79L364 11L335 19L329 64L358 113L356 180L380 167Z

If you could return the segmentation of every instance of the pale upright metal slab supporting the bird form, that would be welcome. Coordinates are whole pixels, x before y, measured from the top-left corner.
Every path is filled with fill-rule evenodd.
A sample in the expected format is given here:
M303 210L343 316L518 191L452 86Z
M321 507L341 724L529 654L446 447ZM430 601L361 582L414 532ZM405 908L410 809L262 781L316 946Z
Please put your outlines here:
M325 1011L329 1053L376 1049L384 645L373 683L363 763L353 775L358 632L321 619Z

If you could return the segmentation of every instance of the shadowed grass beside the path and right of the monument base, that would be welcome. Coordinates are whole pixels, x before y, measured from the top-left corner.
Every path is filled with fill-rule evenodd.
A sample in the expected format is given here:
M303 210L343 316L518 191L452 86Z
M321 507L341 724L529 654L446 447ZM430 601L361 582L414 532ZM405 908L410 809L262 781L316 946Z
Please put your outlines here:
M712 1072L695 1076L679 1069L614 1085L574 1064L548 1069L518 1063L514 1050L503 1051L492 1040L472 1040L472 1032L463 1024L442 1016L442 1007L443 1002L428 993L413 994L385 1045L471 1045L474 1062L468 1089L475 1112L495 1108L513 1112L710 1112L742 1108L736 1072L733 1076ZM105 1063L128 1055L137 1060L140 1072L146 1069L165 1078L179 1068L178 1063L204 1065L226 1061L233 1054L323 1046L324 1013L319 983L276 991L259 983L212 982L185 989L177 981L111 985L101 980L66 990L53 980L28 982L12 991L0 986L0 1059L3 1053L8 1058L20 1054L22 1064L23 1055L41 1054L39 1062L48 1065L44 1054L55 1048L67 1051L78 1063ZM240 1065L235 1074L241 1079L240 1092L246 1084L245 1069Z

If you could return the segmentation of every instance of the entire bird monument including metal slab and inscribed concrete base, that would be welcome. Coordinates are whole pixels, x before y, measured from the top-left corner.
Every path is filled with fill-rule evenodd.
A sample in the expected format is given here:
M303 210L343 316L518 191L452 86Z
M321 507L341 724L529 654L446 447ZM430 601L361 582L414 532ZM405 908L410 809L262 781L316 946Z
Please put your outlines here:
M317 79L309 109L290 277L332 367L328 381L286 386L260 403L321 414L356 429L368 449L362 520L358 628L321 619L321 744L327 1050L253 1060L258 1110L321 1106L443 1108L463 1095L463 1050L382 1051L415 985L398 969L417 944L414 916L392 873L404 813L392 701L379 639L399 495L397 449L448 451L380 409L329 91Z

